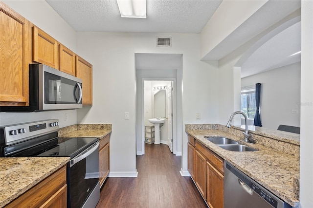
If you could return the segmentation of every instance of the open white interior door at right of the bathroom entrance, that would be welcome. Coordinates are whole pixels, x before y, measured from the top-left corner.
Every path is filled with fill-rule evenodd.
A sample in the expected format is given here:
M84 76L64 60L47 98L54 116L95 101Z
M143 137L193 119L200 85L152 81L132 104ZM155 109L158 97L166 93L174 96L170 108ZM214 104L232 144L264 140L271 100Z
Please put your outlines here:
M170 151L173 152L173 82L167 86L167 145Z

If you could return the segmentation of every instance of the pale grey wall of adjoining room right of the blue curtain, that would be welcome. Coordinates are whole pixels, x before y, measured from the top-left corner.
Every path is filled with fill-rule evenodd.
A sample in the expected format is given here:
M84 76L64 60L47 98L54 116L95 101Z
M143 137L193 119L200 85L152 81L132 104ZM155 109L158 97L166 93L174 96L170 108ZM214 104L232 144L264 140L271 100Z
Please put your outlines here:
M300 68L298 62L241 79L242 87L262 83L263 127L277 129L280 124L300 127ZM292 113L292 110L298 113Z

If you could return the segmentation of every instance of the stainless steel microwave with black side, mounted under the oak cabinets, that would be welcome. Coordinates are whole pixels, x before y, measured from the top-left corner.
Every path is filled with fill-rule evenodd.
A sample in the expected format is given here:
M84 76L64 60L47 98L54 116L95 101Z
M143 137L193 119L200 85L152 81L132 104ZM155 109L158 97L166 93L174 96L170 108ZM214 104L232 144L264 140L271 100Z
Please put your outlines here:
M29 106L3 106L1 112L40 112L82 108L82 80L44 64L29 64Z

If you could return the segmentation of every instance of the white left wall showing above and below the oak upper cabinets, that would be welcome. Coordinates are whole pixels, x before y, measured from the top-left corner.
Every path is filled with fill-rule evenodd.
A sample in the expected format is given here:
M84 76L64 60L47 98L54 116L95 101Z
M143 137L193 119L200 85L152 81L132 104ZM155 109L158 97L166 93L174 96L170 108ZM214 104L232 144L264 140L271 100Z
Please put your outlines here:
M3 2L69 49L76 50L76 32L45 0L3 0ZM65 121L65 113L68 114L67 121ZM76 110L69 110L40 113L0 113L0 126L50 118L58 118L60 127L77 123Z

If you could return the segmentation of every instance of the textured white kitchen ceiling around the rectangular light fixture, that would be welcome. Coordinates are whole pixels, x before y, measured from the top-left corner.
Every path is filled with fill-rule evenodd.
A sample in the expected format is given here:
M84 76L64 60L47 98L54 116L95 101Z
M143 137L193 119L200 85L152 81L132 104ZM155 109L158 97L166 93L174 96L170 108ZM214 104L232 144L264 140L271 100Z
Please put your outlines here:
M75 31L200 33L222 0L147 0L146 19L121 18L116 0L46 0Z

